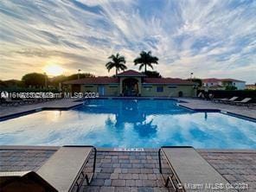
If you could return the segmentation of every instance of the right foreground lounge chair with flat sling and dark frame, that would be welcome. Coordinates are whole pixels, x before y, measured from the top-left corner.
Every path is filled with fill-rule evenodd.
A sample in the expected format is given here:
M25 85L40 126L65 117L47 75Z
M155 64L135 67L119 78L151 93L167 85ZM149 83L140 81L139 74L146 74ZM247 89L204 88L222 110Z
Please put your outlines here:
M232 191L227 188L208 189L208 184L215 186L223 184L227 186L229 182L222 177L193 147L170 147L164 146L158 151L159 170L163 174L161 157L165 157L170 175L163 178L164 186L169 183L175 191ZM163 176L164 177L164 176ZM197 186L199 189L193 189ZM210 187L210 186L209 186ZM235 191L235 190L234 190Z

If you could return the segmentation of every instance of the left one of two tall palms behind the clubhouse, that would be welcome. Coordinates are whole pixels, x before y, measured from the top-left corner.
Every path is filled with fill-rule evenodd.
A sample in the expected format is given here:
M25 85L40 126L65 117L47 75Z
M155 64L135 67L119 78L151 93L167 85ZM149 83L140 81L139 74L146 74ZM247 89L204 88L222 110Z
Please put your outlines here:
M120 55L120 54L112 54L110 57L108 57L108 59L111 59L112 61L108 61L106 63L106 69L108 70L108 72L115 67L116 68L116 76L118 74L118 71L121 69L123 71L125 71L125 69L127 68L125 66L125 57Z

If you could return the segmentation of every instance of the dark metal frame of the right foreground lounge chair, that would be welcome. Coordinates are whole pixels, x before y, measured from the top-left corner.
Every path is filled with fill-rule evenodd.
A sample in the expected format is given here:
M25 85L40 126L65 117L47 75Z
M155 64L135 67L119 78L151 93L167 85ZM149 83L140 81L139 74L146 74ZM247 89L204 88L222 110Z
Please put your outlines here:
M173 189L175 189L175 191L182 191L182 192L185 192L185 189L182 185L182 182L181 180L179 179L179 177L177 176L176 174L176 171L174 170L172 164L170 163L170 160L168 158L165 158L169 167L170 167L170 170L172 172L172 175L168 176L167 177L167 180L166 182L164 181L164 178L163 178L163 171L162 171L162 163L161 163L161 151L163 152L164 154L164 151L162 150L163 148L193 148L191 146L162 146L159 150L158 150L158 160L159 160L159 172L162 176L162 179L163 179L163 183L164 183L164 187L168 187L168 184L170 182L171 186ZM165 154L164 154L165 156ZM177 183L175 185L175 182Z

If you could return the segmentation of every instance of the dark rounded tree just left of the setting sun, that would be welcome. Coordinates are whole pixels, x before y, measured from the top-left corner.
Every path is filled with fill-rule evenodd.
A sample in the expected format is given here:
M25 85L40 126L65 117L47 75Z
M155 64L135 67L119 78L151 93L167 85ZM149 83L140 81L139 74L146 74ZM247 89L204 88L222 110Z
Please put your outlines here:
M48 81L48 76L45 74L37 74L37 73L31 73L31 74L25 74L22 77L22 81L26 86L44 86L45 80Z

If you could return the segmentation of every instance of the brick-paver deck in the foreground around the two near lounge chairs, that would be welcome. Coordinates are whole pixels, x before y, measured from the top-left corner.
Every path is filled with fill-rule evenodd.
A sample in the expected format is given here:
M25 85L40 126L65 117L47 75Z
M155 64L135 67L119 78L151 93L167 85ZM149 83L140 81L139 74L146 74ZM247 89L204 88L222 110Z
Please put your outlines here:
M58 147L0 146L0 171L38 170ZM256 191L256 150L197 150L230 183ZM93 159L93 157L91 158ZM89 161L90 162L90 161ZM163 169L167 163L163 161ZM86 168L88 170L88 167ZM80 191L171 191L163 186L157 149L98 149L96 174Z

